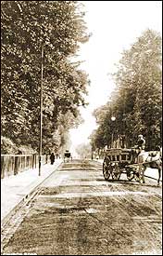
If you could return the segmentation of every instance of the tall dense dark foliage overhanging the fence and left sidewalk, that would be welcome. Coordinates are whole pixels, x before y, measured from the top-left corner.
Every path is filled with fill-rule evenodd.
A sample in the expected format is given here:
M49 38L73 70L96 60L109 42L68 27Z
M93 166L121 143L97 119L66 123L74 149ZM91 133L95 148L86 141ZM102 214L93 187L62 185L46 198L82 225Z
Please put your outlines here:
M38 149L43 61L44 147L59 147L54 134L76 125L85 104L87 74L70 61L89 38L84 13L77 1L1 1L1 9L2 134Z

